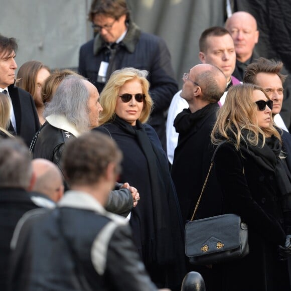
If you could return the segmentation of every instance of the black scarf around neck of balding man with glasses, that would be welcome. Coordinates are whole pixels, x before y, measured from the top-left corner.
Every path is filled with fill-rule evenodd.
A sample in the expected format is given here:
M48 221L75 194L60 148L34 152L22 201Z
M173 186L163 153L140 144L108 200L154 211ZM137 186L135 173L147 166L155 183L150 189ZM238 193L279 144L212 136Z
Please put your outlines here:
M203 118L210 111L218 108L219 106L217 103L209 103L194 113L192 113L189 108L183 109L183 111L179 113L174 120L176 131L182 134L189 132L189 129L193 127L198 120Z

